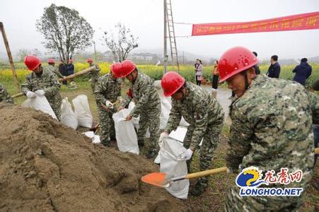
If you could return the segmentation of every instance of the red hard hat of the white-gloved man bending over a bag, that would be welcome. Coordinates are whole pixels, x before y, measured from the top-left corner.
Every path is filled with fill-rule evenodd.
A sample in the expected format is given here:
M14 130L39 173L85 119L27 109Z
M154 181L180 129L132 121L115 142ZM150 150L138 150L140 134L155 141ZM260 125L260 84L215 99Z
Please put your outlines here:
M176 93L176 91L182 88L182 85L184 85L184 83L185 78L180 76L178 73L174 71L165 73L161 81L164 95L166 97L173 95L174 93Z

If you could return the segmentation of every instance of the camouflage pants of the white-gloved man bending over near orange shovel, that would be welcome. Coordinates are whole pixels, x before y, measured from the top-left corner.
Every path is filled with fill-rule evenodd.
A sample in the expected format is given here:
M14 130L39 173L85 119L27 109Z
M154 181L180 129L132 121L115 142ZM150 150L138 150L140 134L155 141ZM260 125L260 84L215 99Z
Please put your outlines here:
M214 150L219 143L219 136L221 134L221 129L223 124L209 124L204 133L202 146L200 147L199 153L199 169L201 171L209 170L211 168L211 159L214 155ZM184 147L190 148L190 143L192 141L192 134L194 132L194 126L188 126L187 133L184 139ZM190 172L190 165L192 163L192 158L187 160L187 170ZM207 187L209 182L209 176L201 177L198 181L202 186Z

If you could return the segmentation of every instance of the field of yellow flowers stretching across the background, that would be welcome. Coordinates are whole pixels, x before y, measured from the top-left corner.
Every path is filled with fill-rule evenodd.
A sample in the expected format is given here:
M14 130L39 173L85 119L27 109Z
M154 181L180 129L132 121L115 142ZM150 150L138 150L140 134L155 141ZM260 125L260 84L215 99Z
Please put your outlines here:
M28 71L23 63L17 63L15 64L16 71L18 75L18 80L23 82L25 80L25 76L30 73ZM105 73L108 73L110 71L110 64L107 62L99 63L98 66L100 66L101 75L104 75ZM295 65L285 65L282 66L282 71L280 73L280 78L292 80L294 77L294 73L292 73L292 69L294 69ZM311 87L313 82L319 78L319 64L311 64L313 67L313 73L311 74L311 77L307 80L307 86ZM81 71L83 69L88 68L87 63L74 63L75 71ZM154 65L138 65L137 68L140 71L143 71L148 76L151 76L151 78L155 80L161 79L163 76L163 66L154 66ZM266 73L268 69L268 65L262 65L260 66L260 70L262 73ZM168 71L173 70L172 66L168 66ZM208 81L211 81L211 70L212 66L204 66L204 78ZM187 81L195 81L195 71L194 66L192 65L184 65L180 66L180 73L182 76L186 78ZM1 69L0 67L0 82L4 81L12 81L12 73L11 69L8 69L6 67L5 69Z

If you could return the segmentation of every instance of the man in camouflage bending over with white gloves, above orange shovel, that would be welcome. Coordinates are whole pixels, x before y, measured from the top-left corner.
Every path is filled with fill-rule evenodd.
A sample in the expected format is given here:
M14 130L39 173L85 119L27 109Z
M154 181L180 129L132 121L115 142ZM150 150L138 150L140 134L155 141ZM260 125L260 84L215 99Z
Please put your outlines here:
M219 102L213 98L207 90L185 82L178 73L168 72L161 81L164 95L172 96L172 109L166 129L161 134L160 141L170 134L170 131L177 129L180 119L185 118L190 124L184 139L184 146L187 148L182 160L187 160L187 169L190 171L192 153L198 147L200 141L202 146L199 155L199 169L208 170L211 167L213 152L219 143L219 135L224 122L224 111ZM209 177L200 178L191 194L199 196L208 187Z

